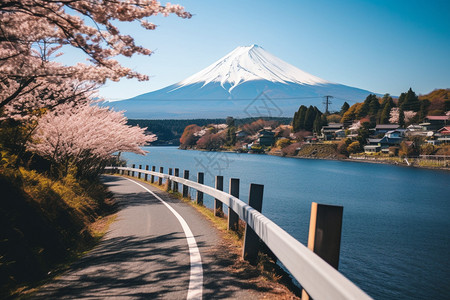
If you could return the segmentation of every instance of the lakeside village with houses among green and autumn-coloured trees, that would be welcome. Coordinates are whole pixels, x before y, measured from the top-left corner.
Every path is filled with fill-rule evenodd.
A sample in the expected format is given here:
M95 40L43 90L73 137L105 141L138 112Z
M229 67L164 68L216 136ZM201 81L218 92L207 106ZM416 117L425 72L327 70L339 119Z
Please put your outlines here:
M290 124L259 119L236 126L187 126L181 149L267 153L287 157L358 159L420 167L450 166L450 89L398 99L369 95L339 112L300 106Z

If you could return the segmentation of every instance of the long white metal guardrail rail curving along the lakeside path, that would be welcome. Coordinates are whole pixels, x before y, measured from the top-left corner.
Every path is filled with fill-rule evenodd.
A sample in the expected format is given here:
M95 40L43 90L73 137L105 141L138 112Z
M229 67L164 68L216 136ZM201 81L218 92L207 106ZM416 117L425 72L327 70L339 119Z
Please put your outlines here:
M242 200L233 197L226 192L181 177L154 171L128 167L106 167L106 169L140 172L142 174L154 175L158 178L169 179L220 200L253 228L261 240L269 247L313 299L372 299L353 282L348 280L317 254L281 229L269 218L244 203Z

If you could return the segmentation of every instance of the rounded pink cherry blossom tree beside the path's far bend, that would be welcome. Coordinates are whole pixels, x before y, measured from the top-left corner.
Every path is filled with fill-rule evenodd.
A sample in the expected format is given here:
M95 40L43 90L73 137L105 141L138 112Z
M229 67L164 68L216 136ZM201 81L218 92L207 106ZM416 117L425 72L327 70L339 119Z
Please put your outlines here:
M140 147L156 140L126 122L122 112L92 102L62 104L39 118L27 148L60 166L62 175L72 166L81 176L97 174L114 152L145 154Z

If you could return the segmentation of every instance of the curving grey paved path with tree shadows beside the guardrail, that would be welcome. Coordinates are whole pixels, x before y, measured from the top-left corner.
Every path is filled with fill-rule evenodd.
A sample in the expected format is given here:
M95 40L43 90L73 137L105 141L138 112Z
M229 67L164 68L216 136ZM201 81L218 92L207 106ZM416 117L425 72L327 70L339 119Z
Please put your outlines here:
M142 182L104 181L120 205L117 221L96 249L32 298L256 299L264 292L246 280L251 274L227 270L233 257L223 253L219 232L191 206Z

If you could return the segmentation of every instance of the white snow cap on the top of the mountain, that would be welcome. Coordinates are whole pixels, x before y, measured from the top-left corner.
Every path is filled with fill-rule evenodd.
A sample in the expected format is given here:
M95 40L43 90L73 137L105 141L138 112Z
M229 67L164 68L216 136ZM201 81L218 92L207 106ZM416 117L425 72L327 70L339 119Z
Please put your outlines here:
M204 86L220 82L231 92L239 84L252 80L308 85L329 83L288 64L258 45L251 45L237 47L209 67L176 84L176 89L191 84Z

